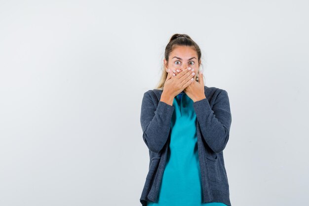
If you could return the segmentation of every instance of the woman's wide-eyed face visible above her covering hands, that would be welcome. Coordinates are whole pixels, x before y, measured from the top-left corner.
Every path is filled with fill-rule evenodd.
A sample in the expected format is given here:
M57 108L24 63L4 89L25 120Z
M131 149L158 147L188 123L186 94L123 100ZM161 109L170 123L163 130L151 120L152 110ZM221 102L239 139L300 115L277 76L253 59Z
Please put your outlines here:
M174 50L169 55L168 63L166 59L164 59L164 65L166 72L167 69L170 69L170 71L176 71L177 69L182 71L188 67L191 67L192 69L194 69L195 72L195 75L193 77L194 80L199 70L197 53L192 46L175 46Z

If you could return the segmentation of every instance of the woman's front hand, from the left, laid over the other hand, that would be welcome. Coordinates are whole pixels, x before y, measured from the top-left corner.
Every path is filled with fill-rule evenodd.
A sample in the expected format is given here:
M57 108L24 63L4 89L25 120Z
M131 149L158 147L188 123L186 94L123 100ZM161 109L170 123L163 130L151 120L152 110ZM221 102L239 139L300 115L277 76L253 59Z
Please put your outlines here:
M183 91L188 85L193 82L195 75L193 69L186 68L176 76L169 70L166 80L164 82L163 92L160 101L169 105L173 105L173 100L176 95Z

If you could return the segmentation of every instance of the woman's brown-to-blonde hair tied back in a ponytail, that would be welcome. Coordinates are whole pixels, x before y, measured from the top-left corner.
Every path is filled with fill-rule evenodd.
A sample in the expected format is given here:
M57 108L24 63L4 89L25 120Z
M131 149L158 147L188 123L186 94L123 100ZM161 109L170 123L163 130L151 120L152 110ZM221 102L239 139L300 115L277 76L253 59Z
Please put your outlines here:
M166 45L165 47L165 52L164 52L164 58L166 59L167 63L168 63L168 58L169 58L169 55L170 53L173 51L174 47L176 45L184 45L184 46L193 46L193 48L195 49L196 53L197 53L197 61L198 61L198 64L200 62L200 59L201 59L201 51L200 51L200 48L199 46L197 45L197 43L195 43L191 37L189 37L189 35L186 35L186 34L174 34L168 44ZM199 64L199 66L203 66L201 63ZM160 89L160 90L163 90L164 88L164 83L166 81L166 78L167 78L167 72L165 71L165 65L163 63L163 66L162 66L162 75L161 75L161 78L159 80L159 82L157 83L156 85L156 89ZM199 71L197 72L197 75L196 75L196 80L198 80L198 76L199 76Z

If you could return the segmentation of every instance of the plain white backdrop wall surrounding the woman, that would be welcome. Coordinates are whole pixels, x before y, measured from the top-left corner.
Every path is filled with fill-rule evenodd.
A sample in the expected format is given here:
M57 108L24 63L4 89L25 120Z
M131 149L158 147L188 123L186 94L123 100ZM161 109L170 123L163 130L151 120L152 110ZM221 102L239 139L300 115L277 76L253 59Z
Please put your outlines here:
M228 91L232 206L306 205L307 0L0 1L0 205L139 206L169 38Z

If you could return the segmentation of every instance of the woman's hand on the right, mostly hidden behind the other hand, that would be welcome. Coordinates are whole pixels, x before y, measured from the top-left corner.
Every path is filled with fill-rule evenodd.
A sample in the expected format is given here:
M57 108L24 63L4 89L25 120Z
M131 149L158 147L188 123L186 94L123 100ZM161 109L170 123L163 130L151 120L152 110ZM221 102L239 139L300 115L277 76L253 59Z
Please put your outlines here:
M193 102L206 98L204 93L204 79L201 71L199 71L198 82L193 80L193 82L184 89L184 92L193 100Z

